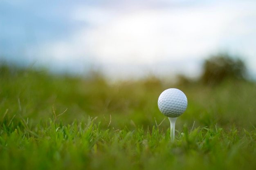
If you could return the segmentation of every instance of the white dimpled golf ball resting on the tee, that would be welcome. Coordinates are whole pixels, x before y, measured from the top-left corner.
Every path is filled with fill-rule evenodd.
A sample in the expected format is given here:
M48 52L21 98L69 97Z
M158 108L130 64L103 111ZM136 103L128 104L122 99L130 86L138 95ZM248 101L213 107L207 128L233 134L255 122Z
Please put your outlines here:
M158 98L158 108L167 117L178 117L188 105L186 95L177 88L168 88Z

